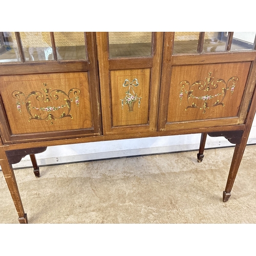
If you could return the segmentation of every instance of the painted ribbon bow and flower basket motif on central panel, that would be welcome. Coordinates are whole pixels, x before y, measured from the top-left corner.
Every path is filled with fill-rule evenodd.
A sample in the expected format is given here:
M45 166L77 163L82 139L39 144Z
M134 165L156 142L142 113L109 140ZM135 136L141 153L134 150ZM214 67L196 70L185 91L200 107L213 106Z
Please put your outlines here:
M124 80L123 87L129 86L128 91L126 91L126 96L123 99L120 99L122 101L122 109L124 104L128 104L129 106L129 112L133 112L133 106L138 100L138 106L140 107L140 100L142 97L138 97L137 93L134 92L133 87L138 87L139 82L138 79L133 79L132 82L130 82L128 79Z

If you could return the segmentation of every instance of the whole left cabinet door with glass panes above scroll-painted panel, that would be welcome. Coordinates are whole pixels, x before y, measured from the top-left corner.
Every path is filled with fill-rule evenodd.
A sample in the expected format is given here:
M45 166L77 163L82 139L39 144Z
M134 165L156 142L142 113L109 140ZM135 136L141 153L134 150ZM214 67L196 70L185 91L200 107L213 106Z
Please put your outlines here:
M102 134L96 34L8 33L0 54L3 142Z

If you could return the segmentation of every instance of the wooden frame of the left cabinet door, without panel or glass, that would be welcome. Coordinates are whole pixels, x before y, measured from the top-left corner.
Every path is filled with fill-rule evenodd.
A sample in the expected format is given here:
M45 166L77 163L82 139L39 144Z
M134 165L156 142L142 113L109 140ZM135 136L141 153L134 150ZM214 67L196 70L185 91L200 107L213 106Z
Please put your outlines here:
M50 32L52 33L52 32ZM18 33L16 32L18 35ZM22 143L30 141L68 139L102 135L101 106L99 92L99 73L97 61L96 33L84 32L85 47L87 47L88 60L54 60L0 63L0 76L48 74L63 72L88 72L92 126L87 129L53 131L47 133L12 134L5 112L3 99L0 95L0 125L3 144ZM53 44L53 48L55 45ZM56 50L55 50L56 51ZM54 52L54 49L53 49Z

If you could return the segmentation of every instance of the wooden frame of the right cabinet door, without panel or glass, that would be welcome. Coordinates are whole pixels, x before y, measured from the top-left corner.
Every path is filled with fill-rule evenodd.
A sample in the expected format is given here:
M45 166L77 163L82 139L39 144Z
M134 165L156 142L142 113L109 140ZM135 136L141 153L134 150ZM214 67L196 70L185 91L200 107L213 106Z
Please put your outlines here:
M225 125L244 124L247 110L255 87L256 75L256 52L237 51L237 52L208 52L194 54L173 54L174 32L164 33L164 49L161 74L161 90L159 103L158 131L177 131L194 129L201 127L216 127ZM200 48L200 47L199 47ZM202 48L202 47L201 47ZM237 117L215 118L196 121L180 121L170 123L167 121L170 82L174 66L203 65L211 63L231 63L231 62L251 62L244 93L242 96L240 109Z

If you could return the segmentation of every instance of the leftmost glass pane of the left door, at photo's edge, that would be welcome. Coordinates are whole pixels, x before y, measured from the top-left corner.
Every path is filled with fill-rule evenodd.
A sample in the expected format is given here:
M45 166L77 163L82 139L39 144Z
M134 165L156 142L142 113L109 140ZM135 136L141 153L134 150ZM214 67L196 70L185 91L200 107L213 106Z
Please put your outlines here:
M14 32L0 32L0 62L20 61Z

